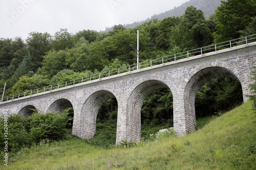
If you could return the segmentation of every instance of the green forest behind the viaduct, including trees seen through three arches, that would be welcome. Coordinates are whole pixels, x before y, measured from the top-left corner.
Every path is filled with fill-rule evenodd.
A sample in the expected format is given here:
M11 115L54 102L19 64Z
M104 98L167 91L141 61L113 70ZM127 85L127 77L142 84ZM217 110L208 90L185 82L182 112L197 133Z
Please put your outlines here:
M254 0L222 1L208 19L197 8L187 7L180 17L152 19L140 30L140 62L177 54L198 47L256 34ZM54 35L31 32L0 39L0 87L5 96L73 80L136 63L130 46L137 44L136 28L115 25L112 31L82 30L75 34L63 28ZM197 118L219 114L243 102L241 84L229 78L212 79L196 97ZM143 126L172 124L172 92L160 89L141 109ZM98 122L117 117L117 102L108 101L98 113Z

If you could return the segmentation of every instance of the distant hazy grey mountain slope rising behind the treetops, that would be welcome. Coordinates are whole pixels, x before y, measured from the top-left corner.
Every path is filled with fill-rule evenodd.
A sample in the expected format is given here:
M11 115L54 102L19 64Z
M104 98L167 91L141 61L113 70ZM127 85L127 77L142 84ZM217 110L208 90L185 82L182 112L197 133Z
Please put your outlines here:
M165 11L163 13L155 14L151 17L148 17L146 20L135 21L134 23L127 23L127 24L124 24L123 26L125 28L135 28L135 27L141 25L142 23L144 23L146 21L150 21L152 19L157 18L159 20L162 20L163 18L166 18L166 17L181 16L185 13L186 8L190 7L190 6L194 6L197 9L202 10L204 12L205 18L209 18L209 16L214 13L214 10L216 10L217 7L220 6L220 5L221 5L221 0L212 0L212 1L208 1L208 0L190 0L190 1L182 4L179 7L175 7L174 9L170 9L170 10ZM107 27L105 29L105 32L112 31L113 28L114 28L114 26L113 27Z

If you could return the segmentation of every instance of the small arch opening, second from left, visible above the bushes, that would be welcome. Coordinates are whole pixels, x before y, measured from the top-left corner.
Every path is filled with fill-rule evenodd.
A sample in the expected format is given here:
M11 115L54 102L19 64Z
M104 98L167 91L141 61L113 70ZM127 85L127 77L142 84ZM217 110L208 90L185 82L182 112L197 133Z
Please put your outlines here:
M58 99L53 102L47 109L47 112L62 112L69 107L73 107L72 103L67 99Z

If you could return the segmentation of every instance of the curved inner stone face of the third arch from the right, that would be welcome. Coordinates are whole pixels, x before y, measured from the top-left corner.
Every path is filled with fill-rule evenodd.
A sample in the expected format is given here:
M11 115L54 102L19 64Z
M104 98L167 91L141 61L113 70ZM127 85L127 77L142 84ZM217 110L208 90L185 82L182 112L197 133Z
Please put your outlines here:
M89 96L84 102L81 112L80 131L77 136L83 139L91 139L96 133L96 118L102 104L106 101L116 98L108 90L99 90Z

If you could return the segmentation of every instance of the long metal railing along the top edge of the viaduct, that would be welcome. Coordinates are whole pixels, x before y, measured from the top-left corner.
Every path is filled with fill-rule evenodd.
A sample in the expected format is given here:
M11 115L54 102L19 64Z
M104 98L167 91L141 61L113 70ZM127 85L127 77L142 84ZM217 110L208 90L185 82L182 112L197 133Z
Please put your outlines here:
M161 64L163 65L164 63L167 63L167 62L177 61L180 59L189 58L189 57L193 57L193 56L198 56L198 55L203 56L206 53L217 52L219 50L223 50L226 48L232 48L234 46L248 44L250 42L254 42L255 40L256 40L256 34L250 35L247 37L238 38L238 39L233 39L230 41L221 42L218 44L213 44L213 45L197 48L195 50L189 50L186 52L157 58L157 59L139 63L139 69L146 68L146 67L152 67L154 65L161 65ZM137 70L137 64L133 64L133 65L129 65L129 66L125 66L125 67L121 67L121 68L117 68L117 69L113 69L113 70L109 70L109 71L105 71L105 72L100 72L98 74L94 74L91 76L82 77L82 78L78 78L78 79L70 80L67 82L62 82L62 83L58 83L58 84L54 84L51 86L46 86L46 87L30 90L30 91L25 91L25 92L18 93L18 94L9 95L9 96L6 96L3 98L3 102L23 98L25 96L38 94L38 93L42 93L42 92L46 92L46 91L61 89L61 88L65 88L68 86L81 84L84 82L91 82L91 81L97 80L97 79L100 80L102 78L120 75L124 72L129 73L130 71L134 71L134 70Z

